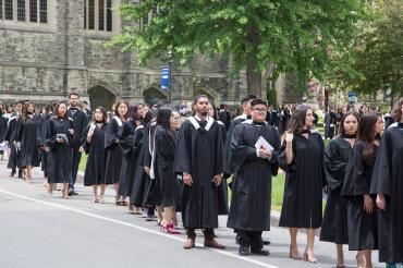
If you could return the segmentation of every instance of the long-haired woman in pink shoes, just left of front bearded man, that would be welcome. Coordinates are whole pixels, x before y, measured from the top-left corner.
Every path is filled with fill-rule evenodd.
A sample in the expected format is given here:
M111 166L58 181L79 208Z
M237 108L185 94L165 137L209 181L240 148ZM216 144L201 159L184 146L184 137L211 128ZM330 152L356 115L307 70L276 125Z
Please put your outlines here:
M176 132L181 126L181 115L168 108L160 108L157 113L155 136L157 180L160 183L161 206L163 207L162 230L170 234L179 234L174 230L173 215L181 203L181 184L173 172Z

